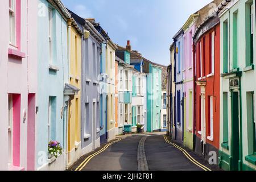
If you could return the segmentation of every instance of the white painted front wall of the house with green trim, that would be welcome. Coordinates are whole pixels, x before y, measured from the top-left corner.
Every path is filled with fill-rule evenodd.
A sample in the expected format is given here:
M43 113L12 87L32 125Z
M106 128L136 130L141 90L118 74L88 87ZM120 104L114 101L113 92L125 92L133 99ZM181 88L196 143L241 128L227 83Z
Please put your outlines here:
M238 164L239 170L252 170L256 169L256 166L253 164L253 162L247 160L250 158L251 155L253 155L253 136L252 130L253 127L253 121L255 119L251 118L251 101L248 99L248 94L251 92L255 93L255 84L251 84L255 80L255 71L252 69L250 65L246 64L246 61L250 61L249 55L250 55L250 48L247 47L249 44L249 38L250 38L250 21L248 19L250 8L249 3L246 2L253 2L253 22L255 22L255 1L238 1L234 5L234 1L230 2L229 8L230 8L230 14L224 13L220 16L220 46L221 46L221 52L220 52L220 73L224 73L224 61L227 62L228 67L227 71L228 73L233 73L233 78L239 78L240 80L240 90L238 90L239 93L239 110L240 114L238 115L238 118L240 121L238 122L238 126L240 129L237 131L235 130L235 127L233 125L233 117L232 114L234 114L234 110L232 109L232 93L235 92L234 89L229 88L229 80L232 78L227 77L226 74L222 74L223 77L220 78L220 151L219 151L219 162L220 167L222 167L225 170L232 170L235 168L234 163L232 162L232 159L236 158L235 152L240 151L238 155L241 157L238 158L241 160L241 163ZM238 11L237 16L233 16L234 13ZM236 22L237 19L237 27L233 26L233 24ZM225 29L225 27L228 26L228 29ZM256 33L255 33L255 24L253 24L253 64L255 65L256 61ZM225 31L224 31L225 30ZM236 31L238 33L238 36L236 36ZM248 31L249 30L249 31ZM228 35L228 40L226 40L226 35ZM237 38L237 39L236 39ZM237 42L237 48L234 46ZM228 47L228 57L226 57L226 51L225 47ZM238 51L237 51L238 50ZM237 66L236 66L236 58L237 56ZM225 66L226 67L226 66ZM236 69L237 71L236 72ZM240 72L240 73L239 73ZM239 76L241 74L241 76ZM237 75L237 77L236 77ZM228 100L225 101L224 93L227 94ZM224 106L224 103L227 102L227 111L228 113L225 113L224 109L226 106ZM255 96L254 96L254 106L255 106ZM247 113L248 111L248 113ZM255 110L253 111L254 117L255 117ZM238 135L239 133L239 135ZM238 146L234 146L233 144L233 138L235 136L238 136L239 144ZM255 153L254 153L255 156ZM231 160L230 160L231 159Z

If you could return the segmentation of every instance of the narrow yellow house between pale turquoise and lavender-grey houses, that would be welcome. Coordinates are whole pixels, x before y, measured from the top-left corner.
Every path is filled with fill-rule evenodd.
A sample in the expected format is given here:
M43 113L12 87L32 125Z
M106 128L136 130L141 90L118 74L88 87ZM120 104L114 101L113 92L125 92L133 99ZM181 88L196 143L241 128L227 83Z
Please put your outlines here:
M81 38L82 31L75 20L68 21L69 84L80 91L69 100L67 167L81 156Z

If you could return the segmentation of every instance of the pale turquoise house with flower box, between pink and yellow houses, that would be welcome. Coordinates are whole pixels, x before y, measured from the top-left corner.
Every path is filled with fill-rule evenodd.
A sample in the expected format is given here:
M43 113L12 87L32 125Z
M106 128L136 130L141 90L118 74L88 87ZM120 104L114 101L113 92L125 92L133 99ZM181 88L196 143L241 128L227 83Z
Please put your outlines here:
M36 169L64 170L65 151L57 159L48 155L48 142L65 146L64 92L73 94L68 84L67 9L55 1L39 0L38 16L38 97L36 97ZM44 10L44 11L43 11ZM65 81L64 81L65 80Z

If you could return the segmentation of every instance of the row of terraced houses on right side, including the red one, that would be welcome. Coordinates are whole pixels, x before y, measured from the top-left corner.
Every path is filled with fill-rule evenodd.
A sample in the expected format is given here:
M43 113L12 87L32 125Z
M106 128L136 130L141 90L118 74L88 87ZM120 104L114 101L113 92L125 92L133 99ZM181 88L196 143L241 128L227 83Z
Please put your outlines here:
M256 169L255 0L214 0L174 36L168 134L225 170Z

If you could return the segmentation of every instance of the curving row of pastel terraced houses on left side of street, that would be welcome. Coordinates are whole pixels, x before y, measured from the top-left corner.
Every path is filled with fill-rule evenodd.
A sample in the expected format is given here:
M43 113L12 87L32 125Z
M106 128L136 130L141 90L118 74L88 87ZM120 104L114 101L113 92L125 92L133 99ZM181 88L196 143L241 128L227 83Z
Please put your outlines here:
M1 1L0 16L0 170L64 170L117 135L166 130L166 67L129 41L60 0Z

